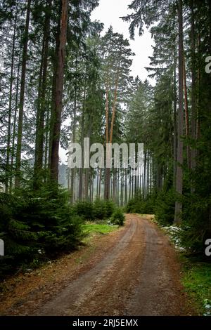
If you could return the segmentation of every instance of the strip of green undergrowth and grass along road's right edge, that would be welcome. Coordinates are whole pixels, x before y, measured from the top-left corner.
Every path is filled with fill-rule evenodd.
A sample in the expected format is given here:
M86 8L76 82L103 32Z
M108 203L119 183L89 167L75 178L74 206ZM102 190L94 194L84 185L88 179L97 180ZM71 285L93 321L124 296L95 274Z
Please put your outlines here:
M192 207L195 206L196 203L192 204ZM192 222L184 209L183 223L180 226L174 225L174 192L171 191L168 194L160 192L146 199L141 193L136 194L136 197L128 202L125 211L155 215L153 222L167 233L179 252L185 291L200 315L211 316L211 260L205 256L206 227L196 221L196 218L199 218L199 209L195 214L191 213Z

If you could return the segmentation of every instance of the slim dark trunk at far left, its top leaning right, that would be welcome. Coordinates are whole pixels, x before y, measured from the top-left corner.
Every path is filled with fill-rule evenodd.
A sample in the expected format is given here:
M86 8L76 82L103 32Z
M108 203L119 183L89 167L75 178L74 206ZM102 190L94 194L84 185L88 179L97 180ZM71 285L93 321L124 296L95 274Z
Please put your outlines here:
M17 141L16 169L15 169L15 187L16 188L20 186L20 166L21 166L22 133L23 133L23 107L24 107L24 98L25 98L25 74L26 74L26 63L27 63L28 39L29 39L30 11L31 11L31 0L28 0L26 21L25 21L25 32L23 34L24 44L23 44L23 58L22 58L21 80L20 80L18 141Z

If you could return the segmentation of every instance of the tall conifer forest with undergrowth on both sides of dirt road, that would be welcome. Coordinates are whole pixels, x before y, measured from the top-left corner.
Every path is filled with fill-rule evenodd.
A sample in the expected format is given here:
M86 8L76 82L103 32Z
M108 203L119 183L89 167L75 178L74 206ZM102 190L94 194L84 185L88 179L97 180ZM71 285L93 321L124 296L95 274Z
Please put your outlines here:
M130 38L141 48L148 29L154 41L148 79L132 75L130 40L91 19L101 0L0 0L0 279L82 249L91 224L121 231L134 213L154 215L179 242L181 263L201 265L203 310L211 305L211 2L128 2L121 20ZM84 166L84 138L143 143L138 175L122 152L119 168L106 157ZM82 151L75 168L71 143Z

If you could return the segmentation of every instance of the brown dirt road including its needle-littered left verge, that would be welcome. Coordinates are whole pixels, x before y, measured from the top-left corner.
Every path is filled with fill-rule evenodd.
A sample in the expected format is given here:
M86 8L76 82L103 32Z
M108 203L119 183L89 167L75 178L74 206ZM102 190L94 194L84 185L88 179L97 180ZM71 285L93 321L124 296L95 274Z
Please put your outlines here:
M175 251L147 218L127 215L84 262L53 267L17 286L1 315L191 315Z

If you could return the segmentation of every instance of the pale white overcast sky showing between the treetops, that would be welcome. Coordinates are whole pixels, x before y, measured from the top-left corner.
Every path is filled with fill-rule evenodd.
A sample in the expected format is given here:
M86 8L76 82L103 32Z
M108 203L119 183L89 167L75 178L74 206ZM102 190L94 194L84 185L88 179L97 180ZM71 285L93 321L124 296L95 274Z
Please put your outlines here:
M124 22L120 16L126 16L129 13L127 6L132 0L100 0L99 6L92 12L91 19L99 20L104 23L103 34L108 30L110 25L113 26L114 32L122 33L124 38L129 39L129 23ZM144 67L148 67L150 60L149 56L153 55L153 39L151 33L145 29L143 36L139 37L136 33L135 40L129 39L132 51L136 54L133 59L131 74L137 75L143 81L147 79L148 72ZM148 79L153 84L152 79ZM66 163L66 151L60 148L60 159Z

